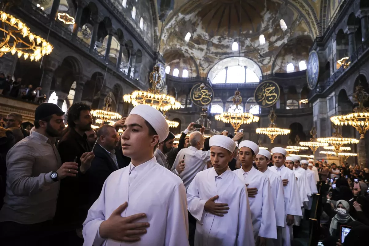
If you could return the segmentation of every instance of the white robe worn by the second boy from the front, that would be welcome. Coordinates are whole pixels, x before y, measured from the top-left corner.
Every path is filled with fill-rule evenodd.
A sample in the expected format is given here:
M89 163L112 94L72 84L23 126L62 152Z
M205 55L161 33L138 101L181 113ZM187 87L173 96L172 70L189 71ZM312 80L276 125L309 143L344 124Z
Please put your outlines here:
M230 208L223 217L204 210L206 201L215 195L219 198L214 202ZM187 189L187 203L197 220L195 246L255 244L246 186L229 167L220 176L213 167L197 173Z

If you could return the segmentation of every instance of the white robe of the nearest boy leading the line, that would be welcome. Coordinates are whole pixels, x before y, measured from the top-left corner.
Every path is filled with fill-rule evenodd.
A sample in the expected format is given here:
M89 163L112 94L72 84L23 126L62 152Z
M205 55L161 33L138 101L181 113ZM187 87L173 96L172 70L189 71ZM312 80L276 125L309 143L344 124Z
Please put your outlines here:
M83 223L84 246L188 246L186 189L182 180L156 162L155 157L137 167L137 176L129 181L129 166L114 171L106 179L99 198L88 211ZM129 183L128 183L129 182ZM149 222L147 233L138 242L118 242L101 238L99 227L124 202L128 207L121 216L145 213Z

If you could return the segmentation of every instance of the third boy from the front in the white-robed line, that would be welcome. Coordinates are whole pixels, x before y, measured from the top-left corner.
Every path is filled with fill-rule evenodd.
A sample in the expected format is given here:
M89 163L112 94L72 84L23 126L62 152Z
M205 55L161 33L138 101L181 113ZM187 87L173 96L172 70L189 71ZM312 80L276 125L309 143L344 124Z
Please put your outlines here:
M252 164L259 153L259 147L252 141L242 141L238 145L241 168L234 171L247 187L256 188L257 194L249 196L252 226L257 246L265 246L266 239L277 238L277 225L273 196L268 176Z

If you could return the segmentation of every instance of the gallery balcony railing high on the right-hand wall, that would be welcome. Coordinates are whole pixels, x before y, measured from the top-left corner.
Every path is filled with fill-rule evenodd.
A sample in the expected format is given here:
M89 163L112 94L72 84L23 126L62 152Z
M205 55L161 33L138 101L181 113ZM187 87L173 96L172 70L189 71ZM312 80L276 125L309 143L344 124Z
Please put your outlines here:
M345 63L337 69L331 77L329 77L324 82L319 82L318 85L310 91L309 93L309 101L313 98L316 94L323 94L327 91L332 85L337 82L341 76L346 72L346 70L350 69L350 67L358 61L359 58L369 49L369 37L366 37L365 41L356 49L356 51L345 61Z

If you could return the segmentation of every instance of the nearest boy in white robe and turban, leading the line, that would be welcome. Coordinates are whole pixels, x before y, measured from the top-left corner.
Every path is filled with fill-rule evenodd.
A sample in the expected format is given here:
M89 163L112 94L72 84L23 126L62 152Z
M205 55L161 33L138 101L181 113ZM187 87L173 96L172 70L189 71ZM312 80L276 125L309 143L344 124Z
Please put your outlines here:
M114 171L83 223L84 246L188 246L182 180L156 162L169 127L158 110L137 105L125 120L122 150L129 166Z

